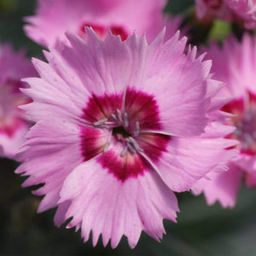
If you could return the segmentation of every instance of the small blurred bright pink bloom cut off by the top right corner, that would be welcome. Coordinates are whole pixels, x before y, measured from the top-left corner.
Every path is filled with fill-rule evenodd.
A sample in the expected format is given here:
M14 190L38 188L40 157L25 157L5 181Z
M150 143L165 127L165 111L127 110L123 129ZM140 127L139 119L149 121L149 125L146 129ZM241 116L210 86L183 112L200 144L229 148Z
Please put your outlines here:
M244 23L248 29L256 26L256 1L255 0L225 0L230 9L234 11L236 19Z

